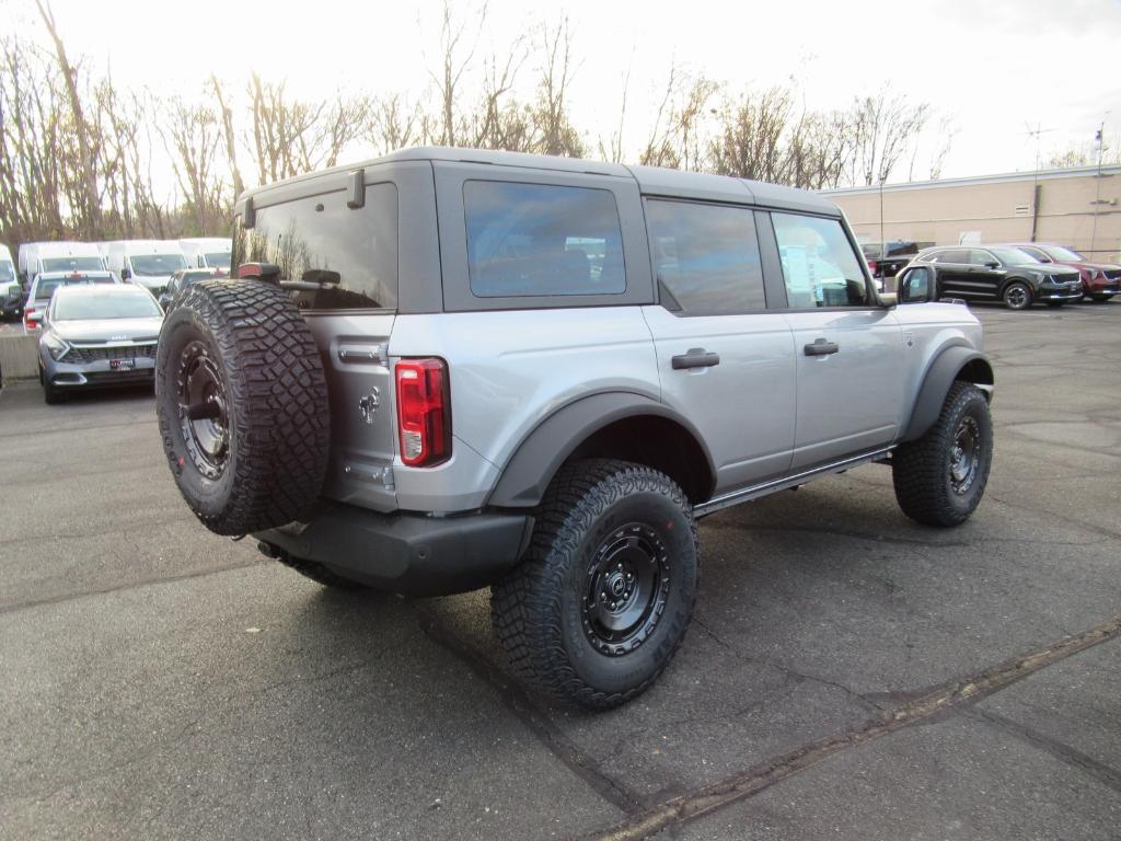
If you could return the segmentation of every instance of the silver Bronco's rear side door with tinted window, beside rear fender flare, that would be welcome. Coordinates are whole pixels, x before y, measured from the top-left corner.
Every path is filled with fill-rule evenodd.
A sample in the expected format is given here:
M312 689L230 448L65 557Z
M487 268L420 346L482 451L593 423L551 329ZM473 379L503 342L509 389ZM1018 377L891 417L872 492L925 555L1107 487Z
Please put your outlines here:
M660 303L643 313L663 399L703 435L717 492L785 473L794 338L766 308L756 212L651 197L646 215Z

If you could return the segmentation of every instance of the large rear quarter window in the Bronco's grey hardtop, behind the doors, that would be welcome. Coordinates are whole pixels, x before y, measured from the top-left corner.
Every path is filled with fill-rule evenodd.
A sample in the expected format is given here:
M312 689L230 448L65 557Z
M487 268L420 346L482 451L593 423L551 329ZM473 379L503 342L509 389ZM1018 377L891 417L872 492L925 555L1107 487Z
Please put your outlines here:
M463 211L478 297L627 290L619 210L609 190L469 181Z

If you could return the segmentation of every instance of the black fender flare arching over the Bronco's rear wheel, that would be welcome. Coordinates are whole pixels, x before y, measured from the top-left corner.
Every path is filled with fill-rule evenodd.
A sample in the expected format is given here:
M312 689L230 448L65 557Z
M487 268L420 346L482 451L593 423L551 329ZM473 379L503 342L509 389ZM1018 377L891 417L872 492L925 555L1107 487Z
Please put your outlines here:
M696 427L663 403L630 391L604 391L567 404L541 420L518 445L502 468L488 506L527 508L538 505L557 470L600 429L628 417L654 416L673 420L696 441L716 475L712 454Z

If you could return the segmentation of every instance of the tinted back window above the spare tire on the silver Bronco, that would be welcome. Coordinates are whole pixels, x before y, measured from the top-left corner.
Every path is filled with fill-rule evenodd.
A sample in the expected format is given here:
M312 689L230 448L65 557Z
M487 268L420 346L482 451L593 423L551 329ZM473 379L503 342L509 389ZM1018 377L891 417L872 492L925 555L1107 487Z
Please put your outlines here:
M371 184L358 209L346 206L348 195L259 207L257 224L233 238L233 265L279 266L302 309L396 308L397 187Z

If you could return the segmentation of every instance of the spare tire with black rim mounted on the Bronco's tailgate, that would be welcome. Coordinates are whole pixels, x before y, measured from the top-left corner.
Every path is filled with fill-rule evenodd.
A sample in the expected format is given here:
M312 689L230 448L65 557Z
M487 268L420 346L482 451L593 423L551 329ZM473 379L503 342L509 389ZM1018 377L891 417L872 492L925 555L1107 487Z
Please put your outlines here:
M184 383L203 369L221 414L197 432L186 404L198 398L188 399ZM330 449L327 383L315 340L282 289L256 280L193 285L160 332L156 414L175 482L212 532L280 526L318 498ZM207 453L204 435L224 443Z

